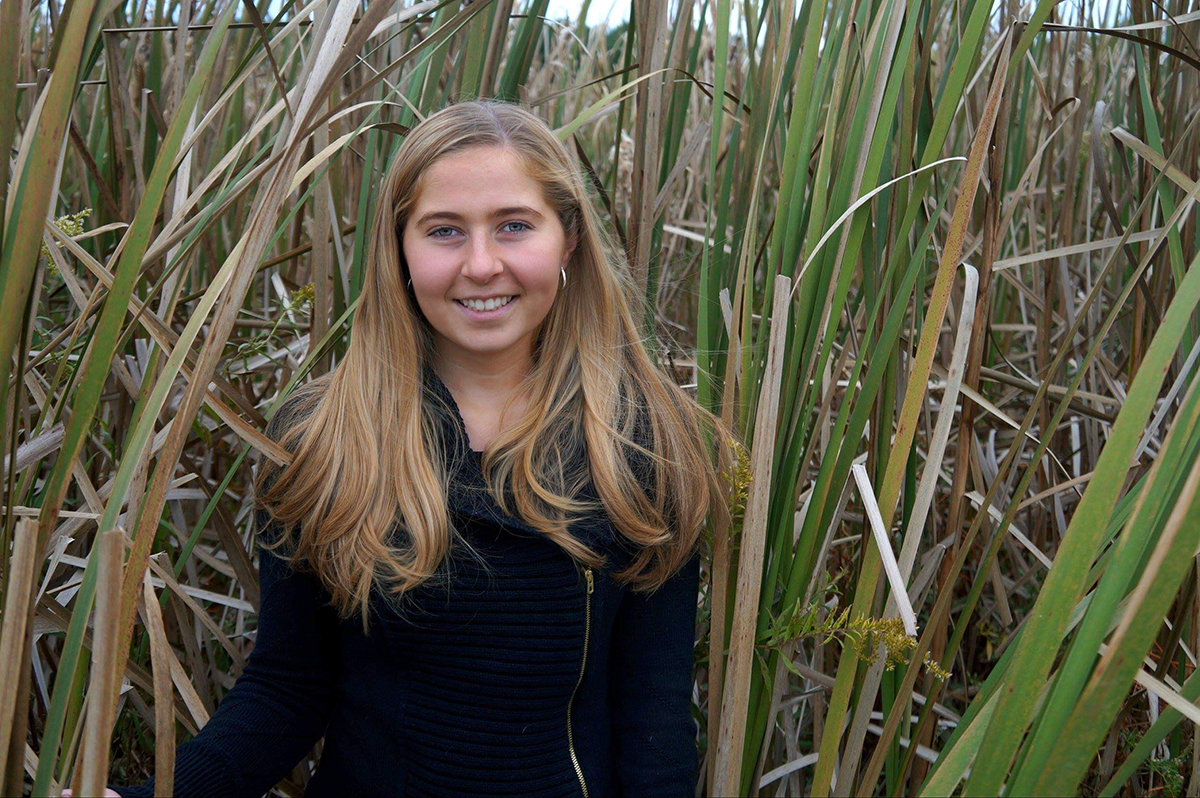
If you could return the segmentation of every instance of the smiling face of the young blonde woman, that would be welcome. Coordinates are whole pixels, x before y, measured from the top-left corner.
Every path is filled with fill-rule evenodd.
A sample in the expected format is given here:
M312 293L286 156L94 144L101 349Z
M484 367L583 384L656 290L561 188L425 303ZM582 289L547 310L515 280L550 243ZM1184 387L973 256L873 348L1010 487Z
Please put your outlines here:
M426 167L402 246L439 352L466 360L529 355L572 247L541 186L498 146Z

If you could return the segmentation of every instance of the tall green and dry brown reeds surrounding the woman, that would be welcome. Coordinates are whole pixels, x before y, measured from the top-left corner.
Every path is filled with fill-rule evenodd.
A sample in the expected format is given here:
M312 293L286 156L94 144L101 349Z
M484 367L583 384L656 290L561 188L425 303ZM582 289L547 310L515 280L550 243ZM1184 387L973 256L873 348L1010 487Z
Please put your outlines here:
M497 96L745 442L697 794L1200 793L1196 5L547 2L0 0L0 792L169 793L382 172Z

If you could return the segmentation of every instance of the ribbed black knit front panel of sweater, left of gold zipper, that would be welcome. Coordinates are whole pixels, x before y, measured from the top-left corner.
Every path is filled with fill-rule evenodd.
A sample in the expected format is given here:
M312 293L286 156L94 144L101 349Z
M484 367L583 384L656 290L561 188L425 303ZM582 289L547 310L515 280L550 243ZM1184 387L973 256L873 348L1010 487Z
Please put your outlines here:
M474 456L473 456L474 457ZM413 794L580 793L566 704L580 674L586 583L562 548L521 530L466 524L450 584L421 586L383 614L409 680L404 743Z

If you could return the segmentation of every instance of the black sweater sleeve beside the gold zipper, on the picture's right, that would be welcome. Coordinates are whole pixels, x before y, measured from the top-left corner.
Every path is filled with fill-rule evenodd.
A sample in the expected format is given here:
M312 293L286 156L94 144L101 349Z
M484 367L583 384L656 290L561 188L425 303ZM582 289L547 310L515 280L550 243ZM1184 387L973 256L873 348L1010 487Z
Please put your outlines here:
M622 794L692 798L700 770L691 713L696 553L650 594L626 592L613 626L610 684Z

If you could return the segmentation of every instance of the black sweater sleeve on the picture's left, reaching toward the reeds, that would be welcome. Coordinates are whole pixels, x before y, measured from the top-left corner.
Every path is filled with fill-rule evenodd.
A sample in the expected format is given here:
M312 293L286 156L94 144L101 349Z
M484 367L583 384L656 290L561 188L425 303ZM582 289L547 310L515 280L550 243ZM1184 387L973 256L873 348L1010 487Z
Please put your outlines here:
M280 522L254 511L259 544ZM269 523L268 523L269 522ZM324 734L336 684L336 611L319 580L259 545L258 632L246 668L200 732L175 754L175 796L258 797ZM112 787L154 796L154 779Z

